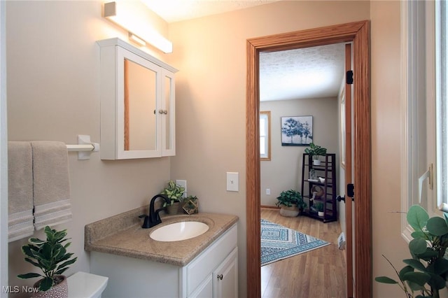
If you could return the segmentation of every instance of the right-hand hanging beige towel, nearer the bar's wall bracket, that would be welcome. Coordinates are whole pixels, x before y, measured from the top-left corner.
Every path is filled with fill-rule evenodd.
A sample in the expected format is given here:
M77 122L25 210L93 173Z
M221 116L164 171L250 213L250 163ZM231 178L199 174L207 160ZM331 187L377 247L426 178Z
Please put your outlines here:
M33 152L34 227L71 220L69 163L66 145L31 141Z

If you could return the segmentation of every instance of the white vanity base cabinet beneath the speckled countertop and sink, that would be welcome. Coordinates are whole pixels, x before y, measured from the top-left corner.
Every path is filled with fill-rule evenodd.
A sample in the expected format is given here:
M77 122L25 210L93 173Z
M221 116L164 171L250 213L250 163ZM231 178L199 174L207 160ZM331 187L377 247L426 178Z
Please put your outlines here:
M238 297L237 225L183 267L92 251L90 272L109 278L104 297Z

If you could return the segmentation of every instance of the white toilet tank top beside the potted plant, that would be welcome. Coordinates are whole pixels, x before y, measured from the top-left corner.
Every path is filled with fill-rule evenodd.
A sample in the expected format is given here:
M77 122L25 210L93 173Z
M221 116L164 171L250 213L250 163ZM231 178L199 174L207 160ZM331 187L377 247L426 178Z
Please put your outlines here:
M69 298L100 298L109 278L82 271L67 278Z

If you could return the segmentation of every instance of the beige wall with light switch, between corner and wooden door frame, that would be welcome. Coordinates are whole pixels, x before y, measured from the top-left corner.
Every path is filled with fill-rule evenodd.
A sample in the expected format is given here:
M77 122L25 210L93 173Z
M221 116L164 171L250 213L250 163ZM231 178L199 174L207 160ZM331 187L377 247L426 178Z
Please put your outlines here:
M367 1L281 1L170 24L170 62L180 69L171 173L188 180L202 210L239 216L241 297L246 296L246 40L368 19ZM226 171L239 172L239 192L226 192Z

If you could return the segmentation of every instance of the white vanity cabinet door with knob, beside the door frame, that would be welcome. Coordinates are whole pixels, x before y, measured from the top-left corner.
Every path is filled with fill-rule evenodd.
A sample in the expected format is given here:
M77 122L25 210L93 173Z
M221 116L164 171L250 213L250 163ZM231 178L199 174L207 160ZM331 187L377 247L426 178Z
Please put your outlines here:
M238 297L238 248L225 258L212 275L213 297Z

